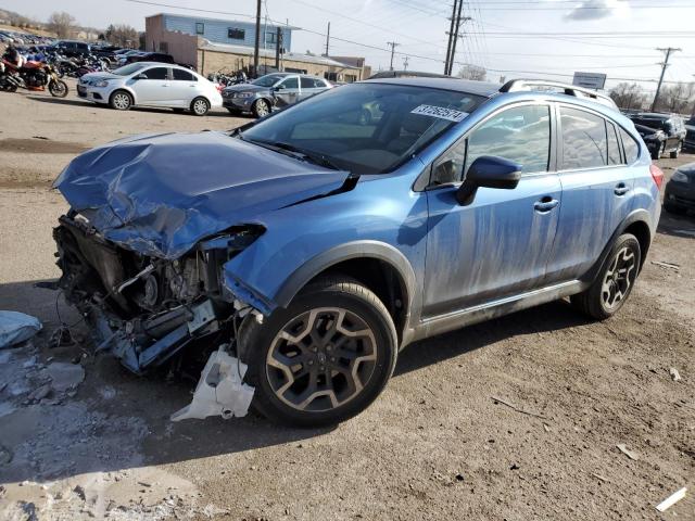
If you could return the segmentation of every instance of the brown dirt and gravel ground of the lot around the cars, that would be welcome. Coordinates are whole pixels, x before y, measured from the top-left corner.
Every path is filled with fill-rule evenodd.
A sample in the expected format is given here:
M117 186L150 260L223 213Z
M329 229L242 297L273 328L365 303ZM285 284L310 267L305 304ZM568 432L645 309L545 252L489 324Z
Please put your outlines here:
M695 519L692 216L664 214L606 322L557 302L412 345L375 405L334 429L172 423L192 380L135 377L86 342L48 347L56 308L76 320L34 288L59 275L51 227L66 206L48 182L88 147L245 119L42 94L2 94L0 113L0 308L43 321L0 352L0 519ZM691 161L659 163L669 176Z

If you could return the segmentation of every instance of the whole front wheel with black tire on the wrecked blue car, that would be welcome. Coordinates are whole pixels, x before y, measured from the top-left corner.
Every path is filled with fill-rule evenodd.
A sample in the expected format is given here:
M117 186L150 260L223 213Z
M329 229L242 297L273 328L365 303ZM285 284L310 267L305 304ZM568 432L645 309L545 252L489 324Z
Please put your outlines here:
M397 356L386 306L346 277L317 280L263 323L247 318L238 342L255 408L298 427L334 424L364 410L391 378Z

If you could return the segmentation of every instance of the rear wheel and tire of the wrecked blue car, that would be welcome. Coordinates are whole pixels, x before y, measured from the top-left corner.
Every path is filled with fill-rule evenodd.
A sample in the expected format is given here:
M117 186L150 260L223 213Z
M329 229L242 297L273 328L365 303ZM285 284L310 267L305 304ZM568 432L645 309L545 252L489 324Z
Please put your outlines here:
M572 295L570 302L596 320L612 317L630 296L641 263L640 242L632 233L623 233L616 240L596 280L582 293Z

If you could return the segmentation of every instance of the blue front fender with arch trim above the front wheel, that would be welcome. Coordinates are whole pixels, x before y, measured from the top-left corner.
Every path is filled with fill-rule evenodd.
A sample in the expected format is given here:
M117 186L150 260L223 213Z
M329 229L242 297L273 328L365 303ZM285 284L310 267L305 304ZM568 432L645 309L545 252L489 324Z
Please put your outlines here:
M331 265L374 257L395 268L408 296L417 301L425 266L427 198L422 192L404 198L396 189L402 183L400 176L382 176L379 182L363 177L350 192L262 216L258 224L266 231L223 266L226 288L268 315L286 307L308 280Z

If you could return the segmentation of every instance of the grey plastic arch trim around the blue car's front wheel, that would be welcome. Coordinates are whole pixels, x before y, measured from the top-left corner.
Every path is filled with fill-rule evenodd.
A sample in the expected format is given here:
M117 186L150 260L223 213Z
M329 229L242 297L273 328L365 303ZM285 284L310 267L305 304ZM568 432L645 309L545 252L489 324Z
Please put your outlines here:
M354 258L376 258L389 264L399 274L405 285L406 298L404 305L406 320L403 333L412 328L413 317L419 316L421 292L417 290L417 278L406 256L394 246L380 241L365 240L340 244L327 250L306 260L290 275L275 295L275 303L280 307L287 307L292 298L317 275L344 260ZM416 312L416 313L414 313Z

